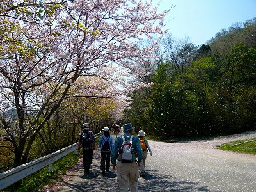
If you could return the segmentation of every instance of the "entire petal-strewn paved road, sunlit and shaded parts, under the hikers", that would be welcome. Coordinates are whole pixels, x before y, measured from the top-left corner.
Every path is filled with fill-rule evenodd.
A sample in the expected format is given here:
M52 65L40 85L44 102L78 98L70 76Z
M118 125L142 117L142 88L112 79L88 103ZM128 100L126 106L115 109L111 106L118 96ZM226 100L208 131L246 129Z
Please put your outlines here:
M147 176L139 178L139 191L256 191L256 156L215 149L246 138L256 138L256 131L202 141L149 141L153 156L147 158ZM115 170L102 177L99 161L100 151L95 150L92 174L84 177L79 163L45 190L118 191Z

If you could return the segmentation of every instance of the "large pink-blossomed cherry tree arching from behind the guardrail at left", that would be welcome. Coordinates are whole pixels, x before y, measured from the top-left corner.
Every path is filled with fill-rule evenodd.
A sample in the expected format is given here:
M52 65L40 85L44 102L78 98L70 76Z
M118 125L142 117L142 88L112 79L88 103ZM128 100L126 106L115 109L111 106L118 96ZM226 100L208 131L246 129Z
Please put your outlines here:
M15 166L26 163L38 133L72 97L80 76L127 86L127 79L145 74L138 63L152 57L165 33L166 12L157 13L152 1L4 0L0 8L0 130L1 140L12 143L1 147L13 152ZM138 45L155 34L153 44ZM108 97L127 91L112 89Z

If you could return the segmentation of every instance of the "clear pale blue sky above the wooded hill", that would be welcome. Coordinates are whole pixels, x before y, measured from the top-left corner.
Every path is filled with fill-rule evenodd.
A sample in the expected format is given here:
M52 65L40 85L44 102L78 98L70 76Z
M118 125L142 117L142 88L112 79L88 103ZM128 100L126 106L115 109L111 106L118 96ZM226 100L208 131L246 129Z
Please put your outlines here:
M189 36L195 45L205 44L221 29L256 17L256 0L162 0L159 11L171 6L175 7L166 17L168 32L176 38Z

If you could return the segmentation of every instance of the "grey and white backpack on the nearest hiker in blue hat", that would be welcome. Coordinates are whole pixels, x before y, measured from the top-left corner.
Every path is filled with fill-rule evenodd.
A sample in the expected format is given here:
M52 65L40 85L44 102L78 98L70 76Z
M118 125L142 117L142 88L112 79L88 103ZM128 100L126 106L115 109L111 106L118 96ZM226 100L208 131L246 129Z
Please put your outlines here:
M118 160L121 161L122 163L132 163L133 158L132 154L134 154L134 148L132 147L132 138L134 137L133 135L131 138L126 141L124 136L121 136L123 143L122 147L119 150L118 154Z

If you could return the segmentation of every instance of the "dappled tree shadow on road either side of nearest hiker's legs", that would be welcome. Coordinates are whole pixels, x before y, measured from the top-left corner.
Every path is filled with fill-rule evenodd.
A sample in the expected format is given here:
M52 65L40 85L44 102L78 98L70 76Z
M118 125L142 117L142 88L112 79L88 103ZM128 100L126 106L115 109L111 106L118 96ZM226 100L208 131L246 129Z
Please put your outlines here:
M116 172L106 172L104 176L100 172L92 172L89 175L77 175L79 182L62 180L68 189L64 191L119 191L116 182ZM63 191L63 190L61 190ZM139 191L212 191L205 182L188 182L179 180L173 175L163 175L156 170L147 170L146 177L139 178ZM215 191L217 192L217 191Z

